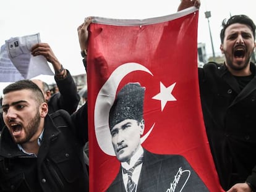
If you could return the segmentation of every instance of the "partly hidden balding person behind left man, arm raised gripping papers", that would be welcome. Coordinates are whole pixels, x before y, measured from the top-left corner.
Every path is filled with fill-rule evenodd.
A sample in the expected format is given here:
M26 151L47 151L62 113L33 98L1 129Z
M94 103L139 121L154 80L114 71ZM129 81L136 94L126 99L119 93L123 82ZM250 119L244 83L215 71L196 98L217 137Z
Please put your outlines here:
M45 101L48 104L48 113L51 114L59 109L64 109L69 112L69 114L75 112L80 101L80 96L77 93L77 86L75 85L75 81L69 70L64 69L48 43L35 44L31 49L31 54L33 56L43 56L53 65L55 72L54 80L59 88L58 93L51 94L49 85L44 81L39 79L32 80L39 86L45 96ZM3 127L4 120L2 119L2 113L0 112L0 131Z

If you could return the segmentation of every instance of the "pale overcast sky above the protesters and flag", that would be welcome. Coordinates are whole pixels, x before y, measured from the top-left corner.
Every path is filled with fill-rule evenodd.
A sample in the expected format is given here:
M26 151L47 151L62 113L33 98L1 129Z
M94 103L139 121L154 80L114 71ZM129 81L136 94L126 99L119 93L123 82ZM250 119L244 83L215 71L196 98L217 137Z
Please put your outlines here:
M8 0L0 6L0 44L15 36L40 33L41 42L48 43L64 67L72 75L84 72L77 36L77 27L87 16L113 19L147 19L173 14L180 0ZM208 20L215 55L220 54L221 22L229 15L245 14L256 22L254 0L201 0L198 20L198 43L205 43L208 56L212 55ZM54 83L53 77L43 78ZM2 86L8 83L0 83ZM1 91L2 93L2 91Z

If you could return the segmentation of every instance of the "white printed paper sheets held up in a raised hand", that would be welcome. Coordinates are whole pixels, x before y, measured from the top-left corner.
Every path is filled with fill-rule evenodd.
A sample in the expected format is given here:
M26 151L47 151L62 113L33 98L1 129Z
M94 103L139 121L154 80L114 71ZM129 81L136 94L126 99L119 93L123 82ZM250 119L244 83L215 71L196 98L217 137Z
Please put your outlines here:
M32 46L40 42L39 33L6 40L0 51L0 82L54 75L45 57L34 57L30 52Z

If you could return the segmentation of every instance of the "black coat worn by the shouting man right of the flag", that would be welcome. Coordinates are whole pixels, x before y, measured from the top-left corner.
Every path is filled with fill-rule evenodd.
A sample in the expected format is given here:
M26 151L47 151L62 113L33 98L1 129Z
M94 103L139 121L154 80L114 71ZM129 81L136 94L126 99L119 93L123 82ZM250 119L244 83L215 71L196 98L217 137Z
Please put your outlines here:
M225 65L198 69L205 128L224 190L234 183L256 186L256 77L243 90ZM255 170L252 172L252 170Z

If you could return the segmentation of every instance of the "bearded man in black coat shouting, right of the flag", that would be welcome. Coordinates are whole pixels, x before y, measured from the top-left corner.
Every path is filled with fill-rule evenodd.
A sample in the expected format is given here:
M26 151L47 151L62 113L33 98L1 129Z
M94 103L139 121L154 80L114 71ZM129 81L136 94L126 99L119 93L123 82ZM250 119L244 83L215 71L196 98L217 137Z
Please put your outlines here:
M205 128L223 189L256 191L255 24L234 15L220 38L224 64L198 69Z

